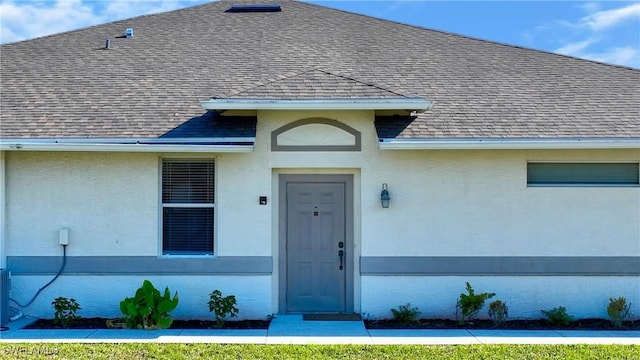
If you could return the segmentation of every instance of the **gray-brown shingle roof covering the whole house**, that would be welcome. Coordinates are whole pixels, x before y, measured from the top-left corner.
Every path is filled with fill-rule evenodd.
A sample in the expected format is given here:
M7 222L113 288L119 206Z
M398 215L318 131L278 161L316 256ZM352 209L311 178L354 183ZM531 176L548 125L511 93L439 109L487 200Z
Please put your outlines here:
M224 12L240 2L3 45L2 138L161 137L212 97L350 91L436 101L398 138L640 137L638 70L290 1Z

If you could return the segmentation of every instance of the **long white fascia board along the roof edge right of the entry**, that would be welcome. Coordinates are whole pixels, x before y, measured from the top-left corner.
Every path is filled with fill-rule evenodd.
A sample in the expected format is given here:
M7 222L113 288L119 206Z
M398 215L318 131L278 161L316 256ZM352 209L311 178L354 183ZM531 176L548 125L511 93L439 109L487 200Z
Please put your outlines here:
M640 138L629 139L380 139L382 150L536 150L639 149Z

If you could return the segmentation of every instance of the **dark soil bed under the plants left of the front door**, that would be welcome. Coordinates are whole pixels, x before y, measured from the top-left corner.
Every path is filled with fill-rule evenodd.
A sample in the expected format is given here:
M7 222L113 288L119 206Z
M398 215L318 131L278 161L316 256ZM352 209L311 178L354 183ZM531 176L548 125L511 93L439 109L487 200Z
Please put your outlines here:
M226 321L221 329L268 329L270 320ZM108 329L105 318L81 318L66 329ZM38 319L25 329L63 329L52 319ZM169 329L217 329L215 320L173 320Z

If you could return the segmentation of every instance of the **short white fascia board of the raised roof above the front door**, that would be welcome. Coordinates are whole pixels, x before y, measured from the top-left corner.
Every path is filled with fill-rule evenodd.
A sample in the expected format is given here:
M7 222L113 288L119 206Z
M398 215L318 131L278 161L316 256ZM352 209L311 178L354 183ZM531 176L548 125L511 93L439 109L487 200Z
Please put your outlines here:
M201 101L205 110L410 110L426 111L434 102L402 99L211 99Z

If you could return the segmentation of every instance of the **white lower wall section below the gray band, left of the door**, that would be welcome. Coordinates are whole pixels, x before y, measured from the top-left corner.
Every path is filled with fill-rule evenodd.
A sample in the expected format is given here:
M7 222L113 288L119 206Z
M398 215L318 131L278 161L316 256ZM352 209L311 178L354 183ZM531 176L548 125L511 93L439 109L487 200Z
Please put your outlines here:
M169 287L171 296L178 292L178 307L171 312L175 319L215 320L209 312L209 294L218 289L224 296L235 295L240 310L238 320L266 319L271 311L270 276L89 276L62 275L54 285L43 290L33 304L22 312L30 316L53 318L51 302L58 296L74 298L83 317L122 317L120 301L133 297L144 280L164 293ZM51 280L51 276L14 276L11 296L21 304L31 300L39 287ZM12 304L15 306L15 304Z

